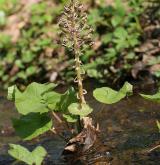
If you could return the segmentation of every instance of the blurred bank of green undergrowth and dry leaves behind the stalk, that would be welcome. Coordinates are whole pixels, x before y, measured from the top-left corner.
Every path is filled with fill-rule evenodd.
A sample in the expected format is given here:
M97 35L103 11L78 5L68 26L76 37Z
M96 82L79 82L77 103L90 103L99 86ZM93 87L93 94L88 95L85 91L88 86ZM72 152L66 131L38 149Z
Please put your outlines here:
M58 17L66 0L0 0L0 83L66 84L73 57L60 44ZM83 0L95 29L81 57L86 78L116 84L160 77L159 0Z

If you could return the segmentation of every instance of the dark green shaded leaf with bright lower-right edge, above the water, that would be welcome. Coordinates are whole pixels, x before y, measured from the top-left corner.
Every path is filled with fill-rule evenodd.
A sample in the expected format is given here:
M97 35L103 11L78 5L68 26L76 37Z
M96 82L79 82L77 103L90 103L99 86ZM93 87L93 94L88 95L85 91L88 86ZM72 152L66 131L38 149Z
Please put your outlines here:
M31 140L52 128L52 120L47 113L30 113L13 119L13 127L18 136L24 140Z

